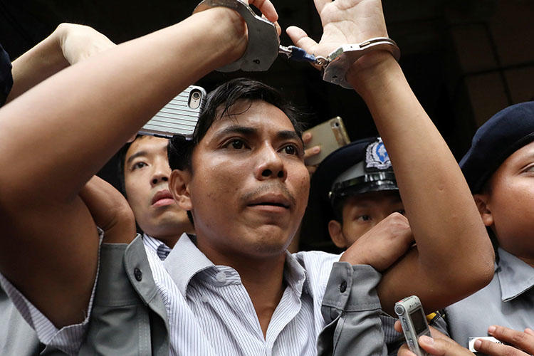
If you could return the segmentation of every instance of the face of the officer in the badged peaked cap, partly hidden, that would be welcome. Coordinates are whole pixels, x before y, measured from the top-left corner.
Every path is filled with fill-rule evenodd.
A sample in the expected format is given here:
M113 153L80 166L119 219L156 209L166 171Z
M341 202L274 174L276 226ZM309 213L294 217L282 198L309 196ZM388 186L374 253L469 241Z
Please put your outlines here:
M369 192L348 197L343 204L343 223L332 220L328 224L335 245L347 248L390 214L404 214L399 192Z

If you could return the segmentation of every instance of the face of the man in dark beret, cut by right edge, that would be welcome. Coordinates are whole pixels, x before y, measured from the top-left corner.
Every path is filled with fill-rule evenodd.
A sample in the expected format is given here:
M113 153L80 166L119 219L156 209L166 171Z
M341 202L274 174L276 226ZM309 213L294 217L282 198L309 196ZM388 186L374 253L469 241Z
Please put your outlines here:
M481 215L499 245L515 256L534 258L534 142L501 164L485 195L487 211Z

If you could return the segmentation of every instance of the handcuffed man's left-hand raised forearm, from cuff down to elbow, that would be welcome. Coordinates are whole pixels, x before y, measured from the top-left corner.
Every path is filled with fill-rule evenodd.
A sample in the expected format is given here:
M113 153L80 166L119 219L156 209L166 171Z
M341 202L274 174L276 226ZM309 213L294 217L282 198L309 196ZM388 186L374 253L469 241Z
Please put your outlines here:
M75 197L159 108L245 46L239 16L211 9L62 70L0 110L0 181L28 199Z

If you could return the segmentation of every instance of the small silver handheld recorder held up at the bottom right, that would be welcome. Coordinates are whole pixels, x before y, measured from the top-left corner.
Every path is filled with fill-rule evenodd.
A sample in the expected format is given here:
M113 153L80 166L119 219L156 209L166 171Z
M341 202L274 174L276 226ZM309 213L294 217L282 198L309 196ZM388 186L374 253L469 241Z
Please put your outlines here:
M421 335L431 337L421 300L417 298L417 295L409 296L395 303L394 310L399 315L404 338L406 338L410 351L414 352L417 356L428 356L429 354L422 350L419 347L419 343L417 343L417 339Z

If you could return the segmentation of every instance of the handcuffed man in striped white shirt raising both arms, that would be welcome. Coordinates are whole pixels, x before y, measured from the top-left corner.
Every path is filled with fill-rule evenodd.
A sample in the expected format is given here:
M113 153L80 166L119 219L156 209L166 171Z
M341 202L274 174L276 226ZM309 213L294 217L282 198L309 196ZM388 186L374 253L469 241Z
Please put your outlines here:
M276 20L269 1L255 3L268 19ZM325 56L347 41L360 43L387 36L379 1L347 4L343 9L337 4L317 2L325 24L323 41L316 44L302 30L290 28L293 41L309 53ZM366 21L360 21L363 19ZM83 341L88 325L85 315L91 311L98 271L95 221L100 220L103 211L92 209L94 197L83 194L83 185L121 142L170 98L209 70L239 58L246 48L245 33L244 23L234 11L202 11L65 70L0 111L1 150L5 157L17 157L16 162L1 162L6 169L0 174L0 183L9 187L0 197L5 231L0 250L2 283L9 287L11 298L23 301L18 304L25 305L21 308L46 317L50 340L62 333L66 336L58 348L66 342L68 352L77 350L69 343L70 335ZM434 310L472 293L491 278L493 255L454 157L390 53L372 51L353 63L347 81L365 99L398 169L395 174L412 229L410 232L404 226L392 231L402 221L389 219L371 234L383 239L382 248L368 253L365 246L369 238L362 236L358 246L349 248L341 259L384 271L377 293L386 311L407 294L419 294ZM127 100L125 92L131 92ZM49 93L55 93L57 99L51 99ZM85 100L88 97L93 100ZM224 354L234 352L232 347L243 353L315 353L313 336L324 326L320 300L335 258L313 253L293 257L285 252L305 209L309 175L303 163L298 125L283 105L271 101L242 97L226 110L224 105L214 105L191 145L174 145L181 151L175 155L176 162L169 160L174 169L169 190L194 219L196 244L189 241L184 246L194 251L194 277L184 287L177 274L184 276L187 271L172 271L176 265L171 263L166 266L167 261L173 261L174 251L165 264L147 252L150 271L135 263L126 271L132 284L138 283L141 288L150 284L147 276L153 277L155 291L144 300L152 302L157 292L164 304L173 354ZM26 142L40 147L39 159L28 152ZM417 173L413 172L413 162L420 164ZM105 200L105 196L99 199ZM132 224L120 228L119 240L134 235ZM439 239L435 238L436 231ZM412 234L417 251L410 251L395 268L387 270L412 245ZM472 248L479 251L476 261L465 258ZM130 268L127 257L125 268ZM366 268L370 267L346 269L357 274ZM203 283L205 288L201 290ZM325 297L323 307L343 309L345 305L339 300L346 303L356 285L352 278L334 284L337 297ZM209 308L199 305L204 300L201 293L194 293L207 290L214 295L232 294L231 298L202 295L206 295L207 305L227 303L226 308L236 313L234 319L244 327L226 333L232 326L219 314L224 305L211 310L206 319L198 318ZM21 293L31 303L17 297ZM57 308L58 303L63 308ZM372 304L372 310L377 311L379 304ZM352 312L362 310L361 305L347 307ZM211 330L208 320L214 323L214 330L222 332L206 338ZM379 329L376 326L370 330ZM246 332L244 337L250 337L244 341L250 340L251 345L239 340L241 331ZM383 335L373 337L375 348L363 342L357 352L382 349Z

